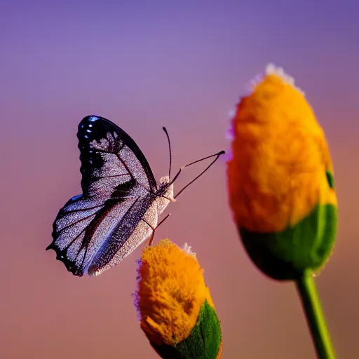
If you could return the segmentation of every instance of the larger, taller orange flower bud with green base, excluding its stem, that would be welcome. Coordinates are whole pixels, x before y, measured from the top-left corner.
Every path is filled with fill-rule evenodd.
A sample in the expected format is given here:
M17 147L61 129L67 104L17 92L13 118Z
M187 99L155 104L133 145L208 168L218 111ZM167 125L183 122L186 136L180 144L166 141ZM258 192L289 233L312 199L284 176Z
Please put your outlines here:
M231 121L229 203L245 249L276 279L326 262L337 197L325 134L304 93L274 65L250 83Z

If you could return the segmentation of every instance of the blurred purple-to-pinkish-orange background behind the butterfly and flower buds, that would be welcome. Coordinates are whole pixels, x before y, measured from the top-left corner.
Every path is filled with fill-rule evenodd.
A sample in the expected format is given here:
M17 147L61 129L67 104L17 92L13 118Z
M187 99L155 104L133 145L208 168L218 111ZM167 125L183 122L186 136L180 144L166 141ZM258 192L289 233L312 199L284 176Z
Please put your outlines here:
M267 62L296 78L327 133L340 222L318 287L339 357L358 358L358 14L356 0L2 1L0 358L157 358L131 297L140 249L98 278L45 251L57 211L81 192L77 125L110 118L158 179L161 126L174 170L227 148L227 112ZM224 161L168 211L156 241L198 253L224 358L314 358L294 285L265 278L238 240Z

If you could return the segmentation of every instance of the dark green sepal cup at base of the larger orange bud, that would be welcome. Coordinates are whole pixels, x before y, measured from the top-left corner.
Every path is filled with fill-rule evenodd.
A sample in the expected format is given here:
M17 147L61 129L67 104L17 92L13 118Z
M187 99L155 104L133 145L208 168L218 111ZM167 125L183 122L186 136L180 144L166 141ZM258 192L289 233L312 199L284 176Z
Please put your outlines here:
M337 233L337 207L317 205L299 223L281 232L238 231L248 255L267 276L297 280L305 270L320 269L330 256Z

